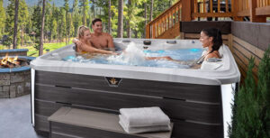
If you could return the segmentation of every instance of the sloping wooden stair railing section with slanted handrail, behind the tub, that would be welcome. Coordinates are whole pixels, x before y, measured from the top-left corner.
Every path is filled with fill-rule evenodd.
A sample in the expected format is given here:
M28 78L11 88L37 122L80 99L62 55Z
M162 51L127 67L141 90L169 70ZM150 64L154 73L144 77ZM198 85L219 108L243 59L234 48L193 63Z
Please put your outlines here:
M165 35L166 31L179 26L179 21L181 21L181 8L182 1L180 0L165 12L159 14L153 21L149 22L146 27L146 38L159 38L161 35ZM178 32L180 34L180 31Z

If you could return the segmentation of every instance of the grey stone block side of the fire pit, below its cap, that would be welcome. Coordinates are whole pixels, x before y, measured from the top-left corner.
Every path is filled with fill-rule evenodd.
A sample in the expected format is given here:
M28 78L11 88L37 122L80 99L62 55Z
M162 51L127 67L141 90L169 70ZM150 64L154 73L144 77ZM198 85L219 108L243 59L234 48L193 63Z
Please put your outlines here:
M31 71L0 73L0 98L21 97L31 93Z

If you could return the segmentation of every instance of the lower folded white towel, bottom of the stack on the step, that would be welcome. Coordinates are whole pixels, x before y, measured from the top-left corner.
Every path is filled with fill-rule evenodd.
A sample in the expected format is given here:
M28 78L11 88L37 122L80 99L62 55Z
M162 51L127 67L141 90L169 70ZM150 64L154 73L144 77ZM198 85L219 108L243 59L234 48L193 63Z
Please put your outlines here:
M170 131L170 125L157 125L157 126L140 126L140 127L129 127L124 124L121 120L121 116L119 124L126 133L148 133L148 132L161 132L161 131Z

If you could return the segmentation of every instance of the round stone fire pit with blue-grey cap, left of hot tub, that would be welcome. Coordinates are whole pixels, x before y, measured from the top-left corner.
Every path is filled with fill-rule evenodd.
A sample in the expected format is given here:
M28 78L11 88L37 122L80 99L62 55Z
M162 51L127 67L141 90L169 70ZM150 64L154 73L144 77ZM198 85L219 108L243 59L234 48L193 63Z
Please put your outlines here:
M14 51L18 50L4 50ZM28 51L28 50L27 50ZM27 52L26 51L26 52ZM1 53L2 51L0 51ZM23 53L22 51L19 51ZM20 54L19 53L19 54ZM2 54L5 55L5 54ZM23 53L23 55L25 55ZM0 57L2 59L3 57ZM27 56L18 56L18 59L31 61L35 58ZM0 69L0 98L4 97L21 97L31 93L31 68L29 66L23 66L19 68L4 68Z

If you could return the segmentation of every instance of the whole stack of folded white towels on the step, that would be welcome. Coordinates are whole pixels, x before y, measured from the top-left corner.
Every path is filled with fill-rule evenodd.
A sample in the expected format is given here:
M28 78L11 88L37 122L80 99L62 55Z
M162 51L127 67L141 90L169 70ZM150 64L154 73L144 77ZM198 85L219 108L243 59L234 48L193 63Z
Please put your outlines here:
M126 133L170 131L170 119L159 107L121 108L121 127Z

